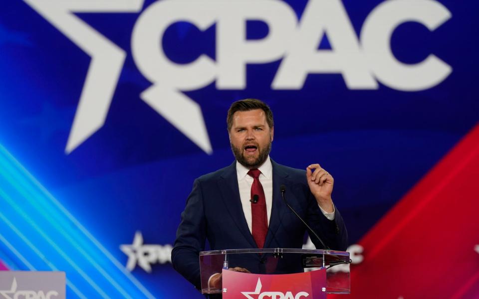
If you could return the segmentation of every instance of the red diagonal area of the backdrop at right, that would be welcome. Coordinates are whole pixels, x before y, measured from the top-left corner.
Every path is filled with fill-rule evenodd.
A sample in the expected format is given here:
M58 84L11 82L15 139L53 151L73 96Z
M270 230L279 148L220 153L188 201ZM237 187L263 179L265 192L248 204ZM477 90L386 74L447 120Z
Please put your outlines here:
M358 242L348 298L479 298L478 211L479 125Z

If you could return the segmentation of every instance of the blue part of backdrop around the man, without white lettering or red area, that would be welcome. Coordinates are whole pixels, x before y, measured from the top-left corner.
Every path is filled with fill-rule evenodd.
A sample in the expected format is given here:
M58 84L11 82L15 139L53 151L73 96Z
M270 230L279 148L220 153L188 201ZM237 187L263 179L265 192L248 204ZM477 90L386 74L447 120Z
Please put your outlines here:
M379 75L372 76L377 89L351 88L338 71L311 71L300 88L276 89L271 84L285 52L272 61L247 62L244 88L218 87L213 80L198 88L175 89L201 109L210 153L182 133L168 113L158 113L140 97L152 83L132 54L132 32L141 15L164 1L130 1L129 11L120 7L124 11L113 12L97 4L86 9L86 3L77 4L81 9L65 8L64 15L116 44L125 60L117 82L112 76L116 83L111 97L104 97L111 99L104 124L68 152L92 54L79 46L82 41L65 34L73 22L65 22L66 29L58 25L63 23L56 15L62 15L64 4L42 2L3 1L0 10L0 260L12 270L66 271L68 298L94 294L162 298L173 292L178 298L201 298L168 262L152 258L150 273L137 263L131 272L125 269L128 255L120 246L131 245L139 231L144 244L161 245L155 247L159 254L168 252L193 180L234 159L226 114L235 100L253 97L270 105L275 161L297 168L318 162L332 173L333 200L346 221L351 244L479 120L474 95L479 67L476 1L431 1L451 13L433 31L413 20L394 28L389 45L398 61L414 65L434 54L452 68L430 88L401 90L379 80ZM203 2L214 10L215 2ZM285 2L300 22L309 9L306 4L327 1ZM358 44L366 18L385 3L332 2L344 5ZM253 11L259 4L244 5ZM186 12L171 10L175 13ZM190 65L200 55L219 60L220 25L213 19L211 26L200 30L180 17L166 26L156 51L163 49L176 65ZM257 18L251 17L244 26L247 40L262 40L272 33ZM334 51L334 28L323 37L320 29L317 32L318 51ZM99 61L108 60L105 53ZM100 72L92 80L107 76ZM162 99L166 105L169 100ZM85 119L93 122L94 109L88 109Z

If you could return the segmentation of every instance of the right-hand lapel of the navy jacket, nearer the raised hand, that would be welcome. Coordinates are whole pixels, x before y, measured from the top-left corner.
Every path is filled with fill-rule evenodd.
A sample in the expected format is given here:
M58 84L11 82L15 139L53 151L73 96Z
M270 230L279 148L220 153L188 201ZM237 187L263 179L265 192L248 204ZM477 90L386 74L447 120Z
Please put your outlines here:
M289 189L289 181L286 179L287 172L282 169L283 167L271 159L273 165L273 198L271 206L271 216L269 217L268 233L266 235L266 241L264 242L264 248L269 248L269 244L275 238L274 235L281 224L281 218L285 211L285 205L281 197L279 187L285 185L286 189ZM277 242L277 240L276 240ZM282 246L282 244L278 244Z

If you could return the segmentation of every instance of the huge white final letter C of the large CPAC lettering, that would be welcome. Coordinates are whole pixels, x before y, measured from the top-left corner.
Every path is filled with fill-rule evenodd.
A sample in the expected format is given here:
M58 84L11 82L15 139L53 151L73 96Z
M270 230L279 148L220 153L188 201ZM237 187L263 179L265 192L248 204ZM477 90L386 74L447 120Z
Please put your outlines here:
M450 65L433 54L417 64L402 63L390 44L394 30L404 22L419 22L433 31L449 18L451 12L433 0L389 0L376 6L361 30L361 44L376 78L403 91L424 90L444 81L452 72Z

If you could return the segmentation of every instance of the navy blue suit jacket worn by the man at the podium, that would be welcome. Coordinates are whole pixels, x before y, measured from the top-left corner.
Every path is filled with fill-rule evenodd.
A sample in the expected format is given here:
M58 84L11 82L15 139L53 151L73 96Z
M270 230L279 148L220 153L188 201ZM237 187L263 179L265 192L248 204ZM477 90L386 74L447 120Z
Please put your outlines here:
M287 202L323 242L332 250L346 250L348 237L338 209L335 209L334 220L328 220L322 214L309 190L306 171L280 165L273 160L271 163L273 198L264 248L301 248L303 245L306 228L282 200L279 187L285 185ZM171 254L172 264L198 289L201 287L199 252L205 250L207 239L211 250L257 248L241 206L236 161L195 180L181 217ZM322 249L312 234L310 238L316 248ZM237 265L230 263L229 266L264 273L259 256Z

